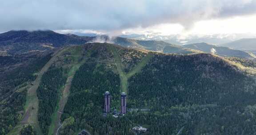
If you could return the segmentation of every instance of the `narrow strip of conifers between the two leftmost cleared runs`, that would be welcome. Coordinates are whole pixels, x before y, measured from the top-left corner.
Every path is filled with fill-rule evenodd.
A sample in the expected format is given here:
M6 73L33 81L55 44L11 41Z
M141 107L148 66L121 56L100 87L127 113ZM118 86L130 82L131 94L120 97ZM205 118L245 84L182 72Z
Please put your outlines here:
M63 68L49 70L42 76L37 97L39 99L38 121L44 135L48 135L52 113L56 109L61 87L64 86L66 79Z

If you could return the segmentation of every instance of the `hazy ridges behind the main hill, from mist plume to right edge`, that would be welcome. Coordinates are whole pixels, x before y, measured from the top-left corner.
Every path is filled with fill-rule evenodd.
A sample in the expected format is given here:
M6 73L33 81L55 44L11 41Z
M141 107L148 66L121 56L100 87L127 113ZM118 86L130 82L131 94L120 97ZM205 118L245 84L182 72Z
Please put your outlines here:
M255 58L253 53L242 50L235 50L228 47L220 47L207 43L186 44L183 46L170 44L164 41L157 40L134 40L123 37L109 37L109 36L94 36L93 42L113 43L123 47L144 49L149 51L175 53L175 54L195 54L195 53L212 53L225 57L241 57L241 58Z

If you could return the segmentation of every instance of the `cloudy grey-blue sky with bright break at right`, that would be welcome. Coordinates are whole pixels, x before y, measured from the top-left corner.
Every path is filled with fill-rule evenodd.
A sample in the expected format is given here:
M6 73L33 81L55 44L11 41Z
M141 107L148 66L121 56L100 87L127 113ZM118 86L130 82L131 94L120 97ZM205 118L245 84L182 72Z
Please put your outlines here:
M256 0L3 0L0 32L256 32Z

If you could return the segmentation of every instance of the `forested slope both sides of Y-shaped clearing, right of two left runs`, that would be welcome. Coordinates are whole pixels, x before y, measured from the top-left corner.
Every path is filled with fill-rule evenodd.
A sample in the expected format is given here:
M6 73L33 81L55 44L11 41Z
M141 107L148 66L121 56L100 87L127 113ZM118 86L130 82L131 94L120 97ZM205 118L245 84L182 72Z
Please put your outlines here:
M181 135L254 133L255 78L246 75L240 67L210 54L151 54L153 56L145 67L132 75L127 83L128 108L148 108L150 112L129 112L118 119L112 115L104 118L102 94L110 91L112 110L119 110L118 92L123 89L120 86L122 80L118 83L120 79L116 76L119 72L115 67L118 65L115 50L108 46L101 50L108 54L107 60L114 63L100 63L94 59L76 72L62 115L67 124L61 134L87 129L93 135L133 135L131 127L136 124L148 127L145 135L176 135L180 129L183 129ZM139 57L132 60L130 58L136 52L129 55L125 50L116 47L121 58L134 61L135 65L125 71L124 65L129 62L121 60L124 75L128 75L125 72L136 68L149 52L142 55L137 52ZM92 58L106 60L100 57L102 53L93 54Z

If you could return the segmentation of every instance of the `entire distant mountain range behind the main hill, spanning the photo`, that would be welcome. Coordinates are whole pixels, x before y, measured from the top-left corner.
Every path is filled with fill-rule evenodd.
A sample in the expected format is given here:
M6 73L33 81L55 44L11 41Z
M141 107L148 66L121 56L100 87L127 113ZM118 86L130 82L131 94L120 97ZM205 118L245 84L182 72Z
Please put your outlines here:
M158 40L135 40L124 37L110 37L104 35L77 36L74 34L60 34L50 30L33 32L9 31L2 33L0 34L0 55L6 56L34 51L42 52L63 46L81 45L95 42L112 43L128 48L136 48L163 53L192 54L205 52L229 57L255 57L252 55L252 53L205 43L187 44L180 46Z

